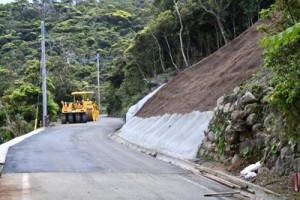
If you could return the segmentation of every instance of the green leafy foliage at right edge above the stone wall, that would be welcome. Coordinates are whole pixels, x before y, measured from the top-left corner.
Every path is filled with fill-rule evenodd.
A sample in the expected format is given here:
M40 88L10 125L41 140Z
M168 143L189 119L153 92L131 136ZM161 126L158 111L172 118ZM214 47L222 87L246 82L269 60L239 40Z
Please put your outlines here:
M277 0L262 14L272 21L260 27L267 33L261 40L264 66L274 73L270 102L283 116L285 132L300 140L300 3Z

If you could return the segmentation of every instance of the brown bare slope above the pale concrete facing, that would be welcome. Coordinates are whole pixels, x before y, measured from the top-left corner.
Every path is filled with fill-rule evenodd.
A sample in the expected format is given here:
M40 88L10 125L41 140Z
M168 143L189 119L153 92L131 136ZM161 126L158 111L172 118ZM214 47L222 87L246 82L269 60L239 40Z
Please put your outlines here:
M261 66L258 22L226 46L184 70L149 99L139 117L213 110L216 101Z

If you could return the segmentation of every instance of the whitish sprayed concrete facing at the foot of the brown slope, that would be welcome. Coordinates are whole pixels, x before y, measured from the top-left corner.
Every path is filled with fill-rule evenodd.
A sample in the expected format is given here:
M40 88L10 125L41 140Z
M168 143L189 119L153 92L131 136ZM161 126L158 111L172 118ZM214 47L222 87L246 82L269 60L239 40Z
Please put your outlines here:
M117 133L139 146L182 159L196 157L213 112L134 117Z

